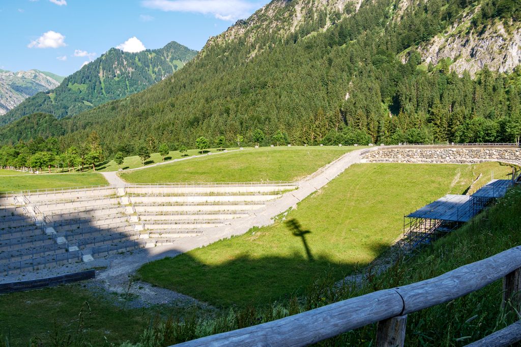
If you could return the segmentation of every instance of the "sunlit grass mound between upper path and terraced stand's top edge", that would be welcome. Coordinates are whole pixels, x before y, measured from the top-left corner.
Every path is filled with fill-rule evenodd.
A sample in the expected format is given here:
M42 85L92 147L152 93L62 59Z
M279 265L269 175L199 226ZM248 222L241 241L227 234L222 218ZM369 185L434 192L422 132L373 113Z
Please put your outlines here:
M292 181L362 147L261 147L120 173L130 183Z

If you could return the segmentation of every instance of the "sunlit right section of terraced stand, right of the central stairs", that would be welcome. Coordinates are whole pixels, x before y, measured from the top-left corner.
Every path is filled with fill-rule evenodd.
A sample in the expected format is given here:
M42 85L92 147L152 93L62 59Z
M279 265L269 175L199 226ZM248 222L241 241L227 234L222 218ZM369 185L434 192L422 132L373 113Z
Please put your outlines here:
M295 188L292 182L144 184L128 186L126 193L144 237L154 240L147 246L153 246L212 232Z

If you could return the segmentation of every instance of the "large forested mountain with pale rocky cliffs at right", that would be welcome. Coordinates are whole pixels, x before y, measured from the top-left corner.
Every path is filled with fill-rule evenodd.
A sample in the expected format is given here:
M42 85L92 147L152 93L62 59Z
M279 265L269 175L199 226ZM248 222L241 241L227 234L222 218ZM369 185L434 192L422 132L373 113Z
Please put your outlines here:
M174 77L61 120L60 145L514 141L520 17L520 0L275 0Z

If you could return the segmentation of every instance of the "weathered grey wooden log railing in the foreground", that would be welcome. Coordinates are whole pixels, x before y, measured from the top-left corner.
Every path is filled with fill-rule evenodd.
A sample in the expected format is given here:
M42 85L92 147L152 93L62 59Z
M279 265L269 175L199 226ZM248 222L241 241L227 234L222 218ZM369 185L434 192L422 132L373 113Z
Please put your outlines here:
M503 305L508 303L506 308L519 312L520 269L521 246L517 246L425 281L380 290L268 323L179 345L304 346L378 322L377 346L403 346L407 314L460 298L501 278ZM514 324L508 328L519 327L521 325ZM497 332L498 335L500 333ZM518 335L521 339L521 334Z

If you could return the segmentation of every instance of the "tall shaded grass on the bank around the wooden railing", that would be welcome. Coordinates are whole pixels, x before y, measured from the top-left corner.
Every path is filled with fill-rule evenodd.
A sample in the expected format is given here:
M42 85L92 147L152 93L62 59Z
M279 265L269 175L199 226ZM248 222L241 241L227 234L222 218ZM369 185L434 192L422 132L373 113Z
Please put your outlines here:
M436 277L456 267L521 244L521 189L512 189L498 204L477 216L460 230L435 242L418 256L400 258L381 272L368 270L362 284L338 286L329 274L317 278L304 295L264 306L230 308L206 318L196 311L184 320L156 319L137 344L121 347L156 347L244 328L271 321L373 291L403 286ZM501 281L477 292L410 314L406 344L412 346L461 346L512 324L519 317L501 309ZM319 343L319 345L374 345L376 324Z

